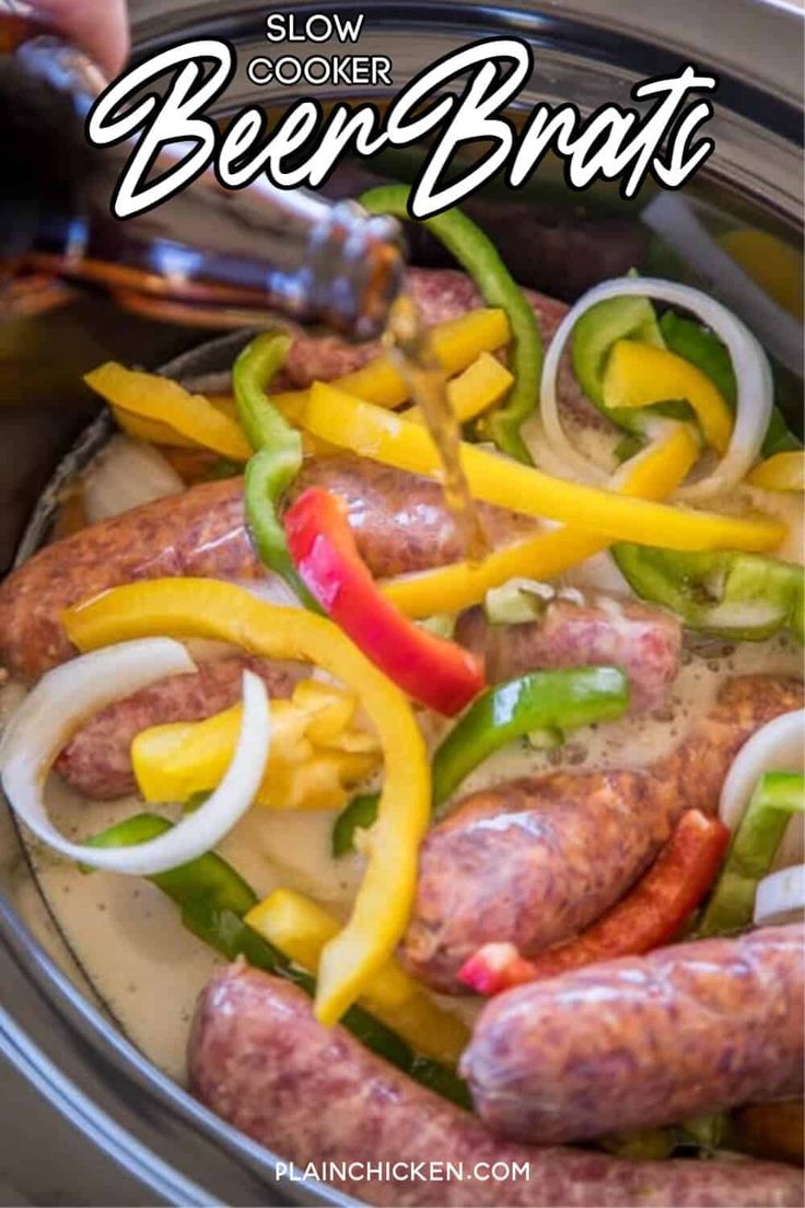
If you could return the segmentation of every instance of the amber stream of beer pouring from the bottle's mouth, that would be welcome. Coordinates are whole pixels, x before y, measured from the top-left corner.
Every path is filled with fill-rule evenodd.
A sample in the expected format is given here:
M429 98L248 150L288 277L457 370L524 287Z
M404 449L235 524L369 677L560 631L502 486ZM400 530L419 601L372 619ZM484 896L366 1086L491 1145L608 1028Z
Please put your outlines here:
M448 396L448 376L433 352L416 304L407 296L391 307L384 343L402 373L413 402L420 408L444 467L444 501L455 519L468 562L488 552L467 476L461 466L461 425Z

